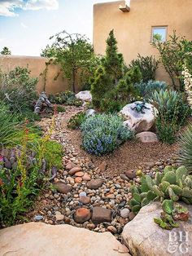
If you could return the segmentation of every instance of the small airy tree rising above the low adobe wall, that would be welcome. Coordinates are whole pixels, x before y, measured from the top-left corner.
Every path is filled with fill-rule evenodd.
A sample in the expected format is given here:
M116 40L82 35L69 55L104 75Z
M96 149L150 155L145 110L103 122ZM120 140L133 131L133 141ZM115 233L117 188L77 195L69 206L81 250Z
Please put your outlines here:
M61 64L63 73L72 83L72 90L76 91L76 76L78 72L89 68L94 58L94 48L85 36L79 33L57 33L50 39L55 39L51 46L42 51L43 56L54 57L55 63Z

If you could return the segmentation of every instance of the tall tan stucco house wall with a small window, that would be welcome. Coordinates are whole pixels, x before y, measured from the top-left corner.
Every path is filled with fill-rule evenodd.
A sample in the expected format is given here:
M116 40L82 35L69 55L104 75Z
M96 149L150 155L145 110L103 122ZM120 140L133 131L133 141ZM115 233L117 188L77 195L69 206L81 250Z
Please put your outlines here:
M119 51L127 64L137 54L156 55L151 46L151 27L168 26L168 34L175 29L192 40L192 0L130 0L130 11L122 12L119 5L124 1L104 2L94 5L94 51L103 55L106 39L114 29ZM156 79L169 82L163 68Z

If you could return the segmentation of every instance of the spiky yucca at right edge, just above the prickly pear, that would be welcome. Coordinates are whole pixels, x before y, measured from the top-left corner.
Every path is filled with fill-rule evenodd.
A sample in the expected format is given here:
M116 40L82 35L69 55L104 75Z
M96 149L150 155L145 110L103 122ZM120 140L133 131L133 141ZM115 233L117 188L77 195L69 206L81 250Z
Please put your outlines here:
M178 161L192 174L192 124L181 133Z

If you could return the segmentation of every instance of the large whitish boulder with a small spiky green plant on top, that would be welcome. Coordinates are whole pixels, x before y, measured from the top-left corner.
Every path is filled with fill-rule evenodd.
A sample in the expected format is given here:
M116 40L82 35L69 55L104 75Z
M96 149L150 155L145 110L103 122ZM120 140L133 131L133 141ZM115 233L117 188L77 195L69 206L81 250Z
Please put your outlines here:
M137 112L136 104L142 104L142 101L136 101L132 104L124 106L120 111L120 115L124 117L124 125L129 126L137 133L150 130L155 122L155 108L153 105L146 103L142 112Z

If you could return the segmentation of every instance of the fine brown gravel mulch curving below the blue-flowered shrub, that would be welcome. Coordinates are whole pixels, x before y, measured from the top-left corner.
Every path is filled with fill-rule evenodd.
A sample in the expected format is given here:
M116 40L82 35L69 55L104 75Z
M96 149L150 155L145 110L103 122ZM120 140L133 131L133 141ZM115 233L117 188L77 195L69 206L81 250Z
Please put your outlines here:
M66 124L74 113L66 113ZM66 125L67 128L67 125ZM147 166L149 162L167 160L174 157L178 151L177 143L168 145L165 143L140 143L136 140L127 141L120 148L103 157L89 155L81 148L81 131L71 130L67 134L72 145L81 157L89 157L98 166L103 161L107 163L107 174L120 174L126 170L137 170Z

